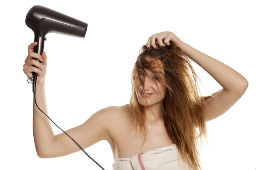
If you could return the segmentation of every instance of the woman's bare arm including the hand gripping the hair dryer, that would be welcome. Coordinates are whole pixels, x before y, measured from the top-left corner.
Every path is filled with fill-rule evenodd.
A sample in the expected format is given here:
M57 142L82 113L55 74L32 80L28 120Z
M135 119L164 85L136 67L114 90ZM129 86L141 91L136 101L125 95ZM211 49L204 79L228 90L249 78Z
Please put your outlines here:
M34 52L34 47L37 42L32 42L28 47L28 56L23 65L23 71L27 77L32 77L32 72L38 73L36 83L35 98L38 107L47 113L47 104L44 89L44 79L47 70L47 56L45 52L42 55ZM42 63L33 59L36 58ZM35 65L36 67L34 67ZM33 135L37 154L40 158L54 158L65 156L81 150L69 136L64 132L54 135L50 120L42 113L35 105L33 99ZM119 113L118 106L110 106L103 108L87 119L83 124L71 128L66 131L83 149L101 140L112 142L110 137L110 127L113 122L114 113Z

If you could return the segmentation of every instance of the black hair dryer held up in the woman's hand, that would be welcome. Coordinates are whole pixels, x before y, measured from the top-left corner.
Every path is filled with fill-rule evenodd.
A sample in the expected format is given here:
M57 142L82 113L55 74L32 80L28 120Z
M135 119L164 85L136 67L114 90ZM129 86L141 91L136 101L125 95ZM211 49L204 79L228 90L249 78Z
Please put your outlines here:
M44 51L44 40L46 40L45 35L47 33L53 32L57 34L84 38L87 30L87 23L39 5L33 6L28 11L26 15L26 26L34 31L34 42L38 42L38 44L34 47L34 52L40 55ZM36 58L34 59L42 63L40 60ZM35 93L35 85L37 82L38 74L32 72L32 75L33 92Z

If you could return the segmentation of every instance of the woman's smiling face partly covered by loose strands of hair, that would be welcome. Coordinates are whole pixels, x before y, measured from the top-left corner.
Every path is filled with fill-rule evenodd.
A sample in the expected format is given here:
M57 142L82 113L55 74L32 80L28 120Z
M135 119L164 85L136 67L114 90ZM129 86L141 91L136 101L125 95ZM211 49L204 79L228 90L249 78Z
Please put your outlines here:
M158 61L157 65L159 66L160 61ZM161 68L155 68L155 71L160 71L163 75L161 75L162 77L164 77L164 71L162 68L162 65L160 65ZM139 69L139 76L140 78L143 80L144 82L144 93L150 93L149 95L146 94L146 99L148 102L148 105L154 105L157 104L159 102L161 102L165 96L166 96L166 88L164 87L164 85L160 82L159 78L153 74L151 71L149 71L148 69L145 69L145 72L143 71L143 69ZM159 90L158 90L158 88ZM140 87L139 91L137 91L137 98L138 98L138 102L145 106L146 101L145 101L145 96L144 94L140 93L143 92L143 87ZM162 97L162 98L161 98Z

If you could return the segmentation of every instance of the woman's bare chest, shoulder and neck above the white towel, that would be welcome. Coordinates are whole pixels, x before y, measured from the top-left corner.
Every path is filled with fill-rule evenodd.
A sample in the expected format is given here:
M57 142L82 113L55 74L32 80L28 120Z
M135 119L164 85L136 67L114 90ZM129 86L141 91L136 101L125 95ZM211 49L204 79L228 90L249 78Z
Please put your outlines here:
M143 144L144 135L140 133L139 126L137 130L136 126L131 126L130 115L131 112L128 109L128 105L124 105L120 107L119 113L116 113L116 115L112 117L115 123L109 128L111 140L108 142L111 146L114 160L117 158L130 158L131 156L144 153L148 150L173 144L167 136L163 119L155 118L153 114L151 115L154 117L154 121L150 120L145 124L147 135L145 137L145 143Z

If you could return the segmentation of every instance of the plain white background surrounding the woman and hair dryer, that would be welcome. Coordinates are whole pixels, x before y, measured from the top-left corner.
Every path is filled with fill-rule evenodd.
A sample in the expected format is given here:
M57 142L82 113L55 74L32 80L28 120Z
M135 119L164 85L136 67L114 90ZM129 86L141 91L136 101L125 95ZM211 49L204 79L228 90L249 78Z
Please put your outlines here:
M34 41L25 17L32 6L42 5L88 23L84 39L52 33L46 36L47 109L59 127L68 130L102 108L129 102L131 72L140 47L152 34L172 31L183 42L229 65L249 82L245 94L229 111L207 122L209 145L205 142L201 148L203 170L255 170L253 4L253 0L1 2L0 169L101 169L82 151L52 159L37 156L32 132L32 84L27 82L23 64L28 45ZM221 88L200 66L194 67L203 82L202 95ZM51 125L56 135L62 133L52 122ZM98 142L85 151L105 170L112 169L108 142Z

